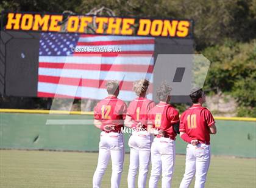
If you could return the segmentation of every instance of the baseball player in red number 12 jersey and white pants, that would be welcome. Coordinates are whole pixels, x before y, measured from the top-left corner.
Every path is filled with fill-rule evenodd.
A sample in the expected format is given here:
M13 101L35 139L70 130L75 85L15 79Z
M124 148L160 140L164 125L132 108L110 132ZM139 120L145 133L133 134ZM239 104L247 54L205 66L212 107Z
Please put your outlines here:
M106 84L108 97L99 101L94 108L94 126L102 130L99 142L99 158L93 175L93 187L101 186L102 176L107 168L108 160L112 159L111 187L119 187L124 162L124 140L121 128L126 118L126 104L117 98L118 81Z

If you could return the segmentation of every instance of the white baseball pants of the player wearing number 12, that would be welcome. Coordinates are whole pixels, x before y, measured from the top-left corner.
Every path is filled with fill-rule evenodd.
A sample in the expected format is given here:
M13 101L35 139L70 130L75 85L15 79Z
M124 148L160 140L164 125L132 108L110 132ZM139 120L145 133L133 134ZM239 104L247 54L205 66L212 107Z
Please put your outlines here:
M102 131L101 141L99 142L98 165L93 175L93 188L101 187L102 176L105 173L105 169L107 169L110 156L112 159L111 187L118 188L124 163L123 134Z

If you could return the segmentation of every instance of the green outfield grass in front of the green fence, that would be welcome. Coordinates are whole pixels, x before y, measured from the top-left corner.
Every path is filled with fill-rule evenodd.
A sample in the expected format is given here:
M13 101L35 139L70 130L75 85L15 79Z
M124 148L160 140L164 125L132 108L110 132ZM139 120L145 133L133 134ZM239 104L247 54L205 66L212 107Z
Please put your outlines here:
M0 150L0 187L92 187L97 160L98 153ZM126 154L121 187L127 187L128 165ZM185 156L177 155L172 187L179 187L184 169ZM102 187L110 187L110 175L109 165ZM206 187L255 186L255 158L212 157Z

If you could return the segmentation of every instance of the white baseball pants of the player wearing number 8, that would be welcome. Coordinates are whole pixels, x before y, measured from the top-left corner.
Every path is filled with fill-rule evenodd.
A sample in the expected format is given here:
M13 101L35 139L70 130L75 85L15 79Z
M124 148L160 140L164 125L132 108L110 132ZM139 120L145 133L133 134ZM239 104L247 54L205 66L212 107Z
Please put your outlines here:
M175 162L175 141L169 138L155 138L151 147L151 176L149 188L156 188L162 173L162 188L170 188Z

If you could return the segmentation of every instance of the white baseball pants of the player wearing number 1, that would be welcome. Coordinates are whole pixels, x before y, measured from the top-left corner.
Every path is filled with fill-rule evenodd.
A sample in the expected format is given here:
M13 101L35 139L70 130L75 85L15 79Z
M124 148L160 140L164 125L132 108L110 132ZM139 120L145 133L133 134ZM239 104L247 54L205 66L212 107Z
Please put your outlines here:
M129 139L130 146L130 166L127 177L128 188L135 188L137 170L138 188L146 187L148 167L150 161L152 136L147 131L133 132Z

